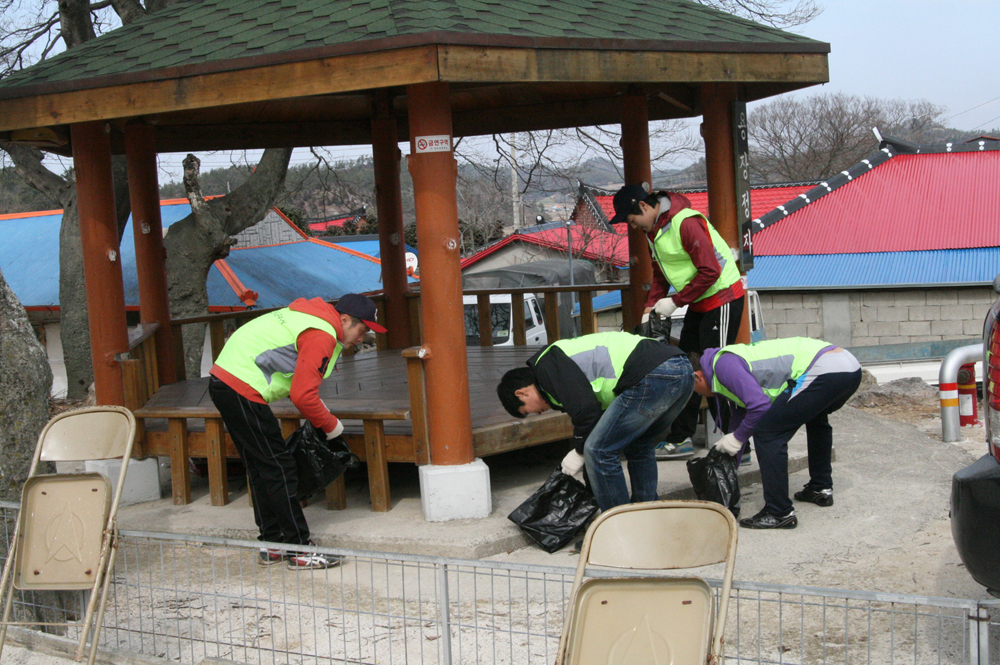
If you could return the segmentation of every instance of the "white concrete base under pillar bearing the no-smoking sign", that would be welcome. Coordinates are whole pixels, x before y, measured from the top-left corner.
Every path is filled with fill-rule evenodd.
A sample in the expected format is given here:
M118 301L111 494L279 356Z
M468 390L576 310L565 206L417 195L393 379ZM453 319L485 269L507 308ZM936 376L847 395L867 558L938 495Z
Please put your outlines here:
M471 464L421 466L420 503L428 522L487 517L493 509L489 467L478 458Z

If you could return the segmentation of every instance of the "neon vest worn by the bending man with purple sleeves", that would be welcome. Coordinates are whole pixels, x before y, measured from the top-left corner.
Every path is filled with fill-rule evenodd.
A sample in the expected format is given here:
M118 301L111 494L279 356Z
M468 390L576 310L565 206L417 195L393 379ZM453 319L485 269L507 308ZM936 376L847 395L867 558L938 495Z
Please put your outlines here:
M805 374L813 359L829 342L809 337L788 337L786 339L768 339L756 344L730 344L719 349L712 359L712 392L718 393L746 407L736 395L719 382L715 373L715 364L723 353L732 353L743 358L750 366L750 373L757 384L772 402L785 389L791 380L796 381Z

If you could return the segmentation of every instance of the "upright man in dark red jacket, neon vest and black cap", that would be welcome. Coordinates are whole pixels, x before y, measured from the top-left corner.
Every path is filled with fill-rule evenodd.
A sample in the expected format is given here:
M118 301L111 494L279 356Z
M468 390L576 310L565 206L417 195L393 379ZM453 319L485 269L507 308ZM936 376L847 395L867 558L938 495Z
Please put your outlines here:
M611 223L627 222L646 234L653 258L653 283L643 322L651 311L669 318L687 305L678 346L704 351L736 341L743 319L744 289L732 250L708 218L676 192L648 193L642 185L625 185L612 200ZM676 293L669 295L673 286ZM698 423L701 396L693 395L674 420L657 459L690 457L691 435ZM727 413L720 414L723 424Z

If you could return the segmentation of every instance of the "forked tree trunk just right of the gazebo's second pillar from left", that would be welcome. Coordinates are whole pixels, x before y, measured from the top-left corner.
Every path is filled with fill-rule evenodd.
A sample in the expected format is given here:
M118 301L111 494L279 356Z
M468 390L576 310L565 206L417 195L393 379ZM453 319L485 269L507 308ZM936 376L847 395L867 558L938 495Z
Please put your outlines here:
M184 159L184 188L191 214L172 224L163 239L171 319L208 313L208 271L216 260L229 256L232 236L264 219L284 187L291 156L291 148L265 150L245 183L210 201L202 197L198 183L201 162L194 155ZM205 326L184 326L183 336L187 375L201 376Z

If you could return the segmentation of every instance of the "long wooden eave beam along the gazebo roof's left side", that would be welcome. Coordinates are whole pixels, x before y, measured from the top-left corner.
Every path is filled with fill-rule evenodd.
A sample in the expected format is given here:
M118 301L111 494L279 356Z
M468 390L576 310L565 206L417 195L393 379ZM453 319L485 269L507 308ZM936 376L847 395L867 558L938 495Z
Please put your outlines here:
M0 131L438 80L434 45L0 100Z

